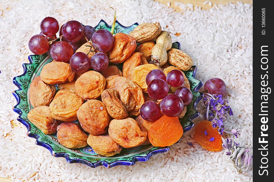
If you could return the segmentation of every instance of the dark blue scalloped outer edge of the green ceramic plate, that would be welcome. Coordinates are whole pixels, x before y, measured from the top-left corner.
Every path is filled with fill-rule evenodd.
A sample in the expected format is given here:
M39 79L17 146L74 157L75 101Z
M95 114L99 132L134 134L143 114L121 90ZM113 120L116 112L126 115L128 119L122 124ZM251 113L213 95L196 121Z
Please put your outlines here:
M104 20L101 20L95 27L98 27L99 24L103 22L106 26L108 27L111 27L111 25L108 25ZM128 27L131 27L132 25L139 25L137 22L130 25L130 26L123 26L121 23L119 23L117 20L116 20L116 23L123 27L123 28L128 28ZM180 43L179 42L176 42L178 45L179 45L179 48L180 48ZM26 73L27 73L27 69L26 69L26 65L31 65L33 63L33 60L32 60L32 56L36 56L36 55L29 55L28 56L28 59L29 59L29 63L23 63L22 64L22 67L23 67L23 73L19 76L15 76L13 78L13 84L15 86L18 87L17 90L13 91L12 94L13 96L15 97L17 103L16 105L13 107L13 111L17 114L19 114L19 116L17 117L17 120L22 123L24 126L26 126L28 132L27 132L27 135L29 137L32 137L32 138L35 138L36 139L36 145L39 145L39 146L42 146L42 147L45 147L46 149L48 149L50 151L50 154L53 155L54 157L64 157L68 163L83 163L83 164L86 164L87 166L89 167L98 167L98 166L104 166L106 168L111 168L111 167L114 167L114 166L118 166L118 165L134 165L136 162L138 161L141 161L141 162L146 162L149 160L150 157L152 157L153 155L155 154L158 154L158 153L164 153L164 152L167 152L168 150L170 150L170 147L163 147L163 148L159 148L159 149L155 149L155 150L152 150L151 152L149 152L148 154L146 154L146 156L135 156L133 157L132 161L126 161L126 160L116 160L116 161L113 161L113 162L107 162L107 161L97 161L97 162L90 162L88 160L85 160L85 159L80 159L80 158L70 158L69 157L69 154L67 153L54 153L53 152L53 149L52 147L48 144L48 143L45 143L45 142L42 142L42 141L39 141L38 139L40 138L40 136L38 134L35 134L35 133L31 133L31 126L30 124L25 121L24 119L21 118L22 116L22 111L20 109L17 108L17 106L19 105L19 103L21 102L21 98L20 96L16 93L16 91L20 91L22 90L22 85L20 83L17 82L16 78L17 77L22 77L22 76L25 76ZM193 71L193 77L195 79L197 79L195 76L196 76L196 71L197 71L197 67L196 66L192 66L192 68L194 69ZM198 80L198 79L197 79ZM200 80L198 80L200 81ZM198 90L201 88L201 86L203 85L203 83L200 81L199 84L195 87L194 91L195 92L198 92ZM194 102L194 107L197 106L197 103L202 99L203 97L203 93L200 93L200 96L197 97L196 101ZM195 109L195 108L194 108ZM195 109L196 110L196 109ZM187 131L189 131L193 126L194 126L194 123L191 121L195 118L197 118L199 116L199 112L196 110L196 113L192 114L191 116L189 116L187 118L187 120L189 120L192 124L190 126L187 127ZM185 129L186 130L186 129ZM184 131L187 132L187 131Z

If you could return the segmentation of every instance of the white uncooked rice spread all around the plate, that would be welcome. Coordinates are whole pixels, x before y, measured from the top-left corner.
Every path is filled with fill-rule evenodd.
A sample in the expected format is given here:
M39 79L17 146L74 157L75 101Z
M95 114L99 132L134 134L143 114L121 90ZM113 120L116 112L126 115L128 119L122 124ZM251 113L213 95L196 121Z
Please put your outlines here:
M198 67L197 78L204 82L212 77L225 80L228 100L234 116L228 118L227 129L239 127L238 142L252 144L252 5L213 5L201 10L178 4L182 13L152 1L1 1L0 5L0 177L14 181L250 181L252 171L235 172L225 151L208 152L193 139L193 130L183 135L180 143L165 154L153 156L148 162L111 169L90 168L69 164L35 145L26 136L26 127L16 120L12 111L16 104L12 91L14 76L23 72L22 63L31 54L28 41L39 34L39 23L46 16L60 24L79 20L97 25L113 20L112 6L123 25L159 21L171 32L173 41L181 43ZM176 37L174 34L180 32ZM202 120L200 117L195 123ZM12 121L12 122L11 122ZM13 123L13 124L12 124ZM192 142L193 147L187 145Z

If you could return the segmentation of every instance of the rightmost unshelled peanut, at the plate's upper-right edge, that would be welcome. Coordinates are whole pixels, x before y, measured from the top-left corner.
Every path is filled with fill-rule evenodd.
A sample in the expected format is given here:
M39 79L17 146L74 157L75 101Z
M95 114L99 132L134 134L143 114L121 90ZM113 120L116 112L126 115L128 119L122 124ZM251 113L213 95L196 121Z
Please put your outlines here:
M168 56L168 63L177 66L178 68L182 69L183 71L187 71L193 65L193 60L189 55L179 49L171 48L167 52Z

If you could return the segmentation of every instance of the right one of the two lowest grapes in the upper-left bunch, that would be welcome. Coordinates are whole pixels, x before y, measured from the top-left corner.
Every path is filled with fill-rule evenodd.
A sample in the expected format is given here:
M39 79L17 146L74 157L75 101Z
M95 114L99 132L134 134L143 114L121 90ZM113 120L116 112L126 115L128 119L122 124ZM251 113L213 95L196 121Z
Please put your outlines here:
M91 66L96 71L104 70L108 67L108 56L103 52L97 52L91 57Z

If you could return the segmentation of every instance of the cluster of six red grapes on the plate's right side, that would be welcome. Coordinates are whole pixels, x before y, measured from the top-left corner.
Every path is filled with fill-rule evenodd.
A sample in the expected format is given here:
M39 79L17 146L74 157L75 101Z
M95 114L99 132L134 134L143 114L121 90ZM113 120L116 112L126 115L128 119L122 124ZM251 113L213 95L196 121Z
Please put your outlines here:
M140 115L144 120L156 121L163 114L169 117L179 116L183 107L192 101L190 89L183 86L184 76L179 70L170 71L167 76L159 69L151 70L146 76L147 92L152 99L162 99L160 107L156 102L147 101L140 108ZM170 87L179 87L170 93ZM170 94L169 94L170 93ZM161 110L161 111L160 111Z

